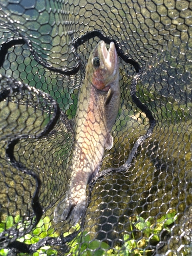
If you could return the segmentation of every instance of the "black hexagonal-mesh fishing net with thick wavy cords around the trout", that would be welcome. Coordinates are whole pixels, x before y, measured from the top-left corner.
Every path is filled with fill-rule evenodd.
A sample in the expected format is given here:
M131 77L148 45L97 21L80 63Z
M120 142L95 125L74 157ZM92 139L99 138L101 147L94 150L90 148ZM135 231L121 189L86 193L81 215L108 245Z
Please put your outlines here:
M1 255L190 255L191 4L1 0ZM99 40L115 43L120 108L72 226L54 210Z

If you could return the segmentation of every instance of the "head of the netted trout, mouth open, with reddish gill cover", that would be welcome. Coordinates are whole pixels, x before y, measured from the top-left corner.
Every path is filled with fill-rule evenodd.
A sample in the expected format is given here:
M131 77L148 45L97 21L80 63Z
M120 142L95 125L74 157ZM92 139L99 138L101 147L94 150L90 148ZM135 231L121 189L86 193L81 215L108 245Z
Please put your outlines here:
M118 79L119 75L118 56L114 42L110 43L108 51L105 42L99 41L90 54L86 75L96 89L109 91L110 84Z

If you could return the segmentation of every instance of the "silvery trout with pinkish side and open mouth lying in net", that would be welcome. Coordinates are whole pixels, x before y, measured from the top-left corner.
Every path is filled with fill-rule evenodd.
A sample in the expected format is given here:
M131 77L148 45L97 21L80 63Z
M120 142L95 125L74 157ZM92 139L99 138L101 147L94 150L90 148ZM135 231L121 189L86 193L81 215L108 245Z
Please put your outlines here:
M99 41L90 53L74 119L75 142L67 173L65 198L54 211L54 221L75 225L87 204L87 185L97 175L105 148L113 146L110 132L120 105L118 55L114 42L109 51Z

